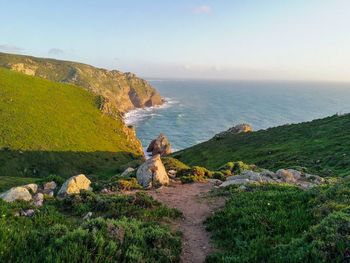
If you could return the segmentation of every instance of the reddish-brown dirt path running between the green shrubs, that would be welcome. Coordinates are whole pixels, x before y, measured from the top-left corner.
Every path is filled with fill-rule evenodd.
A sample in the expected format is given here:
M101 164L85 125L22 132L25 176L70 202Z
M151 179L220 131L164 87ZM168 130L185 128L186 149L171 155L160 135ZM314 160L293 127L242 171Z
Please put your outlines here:
M203 221L215 210L224 205L223 198L207 198L215 182L181 184L152 190L149 194L156 200L180 210L184 219L175 224L183 232L182 263L202 263L212 250L210 234Z

